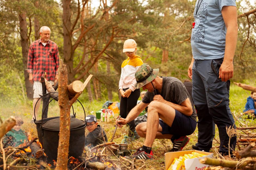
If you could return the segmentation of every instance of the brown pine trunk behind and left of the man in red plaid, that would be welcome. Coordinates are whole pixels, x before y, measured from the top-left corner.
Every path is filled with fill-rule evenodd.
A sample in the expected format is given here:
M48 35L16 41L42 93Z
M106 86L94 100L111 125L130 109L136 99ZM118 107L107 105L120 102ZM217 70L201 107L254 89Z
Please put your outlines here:
M26 12L19 13L19 25L20 25L20 43L22 47L22 58L24 68L24 78L26 85L26 92L29 99L33 99L33 85L29 82L29 74L26 71L28 65L28 51L29 51L29 37L27 35L27 23L26 23Z

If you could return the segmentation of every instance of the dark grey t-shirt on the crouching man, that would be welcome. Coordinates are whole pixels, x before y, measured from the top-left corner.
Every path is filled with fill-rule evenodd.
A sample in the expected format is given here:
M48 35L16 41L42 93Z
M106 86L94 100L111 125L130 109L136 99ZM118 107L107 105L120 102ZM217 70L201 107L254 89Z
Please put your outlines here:
M191 118L193 118L196 121L196 110L194 108L193 101L188 94L187 89L185 88L184 84L175 77L162 77L163 78L163 86L161 90L161 96L164 98L164 100L172 102L174 104L181 104L184 102L187 98L189 98L193 113L191 115ZM150 103L153 101L154 96L157 95L157 91L149 92L147 91L144 95L142 102L143 103Z

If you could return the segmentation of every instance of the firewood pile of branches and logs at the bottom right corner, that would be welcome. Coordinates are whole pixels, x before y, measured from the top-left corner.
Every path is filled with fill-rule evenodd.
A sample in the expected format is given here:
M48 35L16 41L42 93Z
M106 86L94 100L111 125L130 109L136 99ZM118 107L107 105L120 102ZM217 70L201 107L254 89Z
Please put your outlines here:
M236 129L228 129L227 133L230 137L237 136L236 150L230 151L230 155L221 156L217 148L215 153L217 159L204 158L200 159L201 163L211 165L206 170L225 170L225 169L256 169L256 126L247 126L241 120L246 120L247 116L254 118L252 110L246 111L239 116L234 115Z

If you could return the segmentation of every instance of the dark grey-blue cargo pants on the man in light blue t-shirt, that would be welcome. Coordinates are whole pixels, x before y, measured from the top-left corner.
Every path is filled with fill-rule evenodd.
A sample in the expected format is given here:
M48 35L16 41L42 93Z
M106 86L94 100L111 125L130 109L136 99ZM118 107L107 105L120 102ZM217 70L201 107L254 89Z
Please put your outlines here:
M220 153L228 154L229 136L226 126L234 125L234 119L229 108L230 81L219 79L219 69L223 59L195 60L192 69L192 97L198 116L199 150L209 150L215 136L217 124L220 136ZM235 128L235 126L234 126ZM235 149L236 136L230 140L230 149Z

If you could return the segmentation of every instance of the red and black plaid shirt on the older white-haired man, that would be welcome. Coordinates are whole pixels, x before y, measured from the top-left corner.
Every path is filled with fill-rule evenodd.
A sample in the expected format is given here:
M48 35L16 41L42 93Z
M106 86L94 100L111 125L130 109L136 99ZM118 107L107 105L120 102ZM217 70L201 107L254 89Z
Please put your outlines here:
M41 80L44 72L47 80L54 81L59 68L59 50L56 43L49 40L44 46L41 39L34 41L29 47L28 73L33 73L34 81Z

